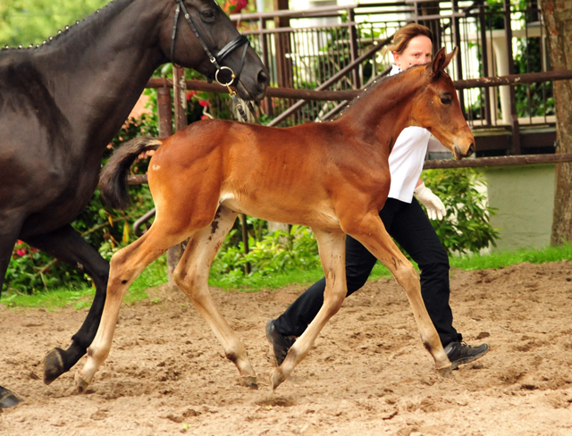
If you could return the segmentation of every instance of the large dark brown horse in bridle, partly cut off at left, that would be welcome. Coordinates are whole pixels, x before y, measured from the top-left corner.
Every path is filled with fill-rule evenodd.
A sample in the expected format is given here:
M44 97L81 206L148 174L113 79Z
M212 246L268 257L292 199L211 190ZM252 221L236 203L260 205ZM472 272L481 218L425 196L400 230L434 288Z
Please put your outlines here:
M214 0L115 0L39 47L0 52L0 289L17 239L97 288L70 348L46 356L46 383L86 353L105 304L109 264L70 222L97 187L105 147L170 61L211 78L221 64L240 96L265 94L264 65Z

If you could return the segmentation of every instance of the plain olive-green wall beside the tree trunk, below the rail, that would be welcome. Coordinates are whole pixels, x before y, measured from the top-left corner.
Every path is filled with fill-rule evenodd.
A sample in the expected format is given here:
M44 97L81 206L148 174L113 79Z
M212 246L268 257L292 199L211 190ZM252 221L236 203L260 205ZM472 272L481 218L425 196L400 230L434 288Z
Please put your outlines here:
M493 251L545 247L551 241L554 165L489 167L489 205L498 208L492 226L501 240Z

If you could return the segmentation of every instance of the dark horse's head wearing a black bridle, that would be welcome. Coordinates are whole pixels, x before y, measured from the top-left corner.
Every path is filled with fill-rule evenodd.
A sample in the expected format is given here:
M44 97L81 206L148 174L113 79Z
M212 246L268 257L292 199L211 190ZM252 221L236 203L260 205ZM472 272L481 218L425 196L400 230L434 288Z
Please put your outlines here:
M231 83L242 98L260 100L265 96L268 71L215 0L164 2L170 24L163 26L161 41L170 62L193 65L211 80Z

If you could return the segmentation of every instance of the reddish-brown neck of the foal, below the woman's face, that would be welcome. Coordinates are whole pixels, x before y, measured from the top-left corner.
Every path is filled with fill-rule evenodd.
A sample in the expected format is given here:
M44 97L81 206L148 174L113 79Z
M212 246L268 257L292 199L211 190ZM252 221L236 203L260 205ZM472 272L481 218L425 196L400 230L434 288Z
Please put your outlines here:
M382 143L394 142L401 130L413 125L413 96L425 83L422 71L407 71L399 77L384 80L358 97L341 121L350 122L357 135L361 133Z

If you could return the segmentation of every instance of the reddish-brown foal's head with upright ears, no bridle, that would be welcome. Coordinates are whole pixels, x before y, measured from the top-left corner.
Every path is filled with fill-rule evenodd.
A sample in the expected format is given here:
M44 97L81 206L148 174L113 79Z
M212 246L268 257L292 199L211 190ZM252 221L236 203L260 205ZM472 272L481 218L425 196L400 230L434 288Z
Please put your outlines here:
M456 159L461 159L475 152L475 137L461 111L453 81L445 72L455 55L457 48L449 55L442 48L433 62L425 64L425 87L417 93L411 116L449 148Z

